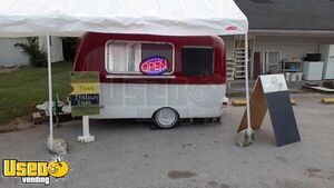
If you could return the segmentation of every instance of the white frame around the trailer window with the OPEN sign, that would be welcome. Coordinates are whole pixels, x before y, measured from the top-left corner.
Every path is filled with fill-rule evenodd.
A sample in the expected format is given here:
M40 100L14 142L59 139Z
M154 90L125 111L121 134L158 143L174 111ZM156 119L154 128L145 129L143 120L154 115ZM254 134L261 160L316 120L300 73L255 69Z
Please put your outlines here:
M171 46L171 71L164 72L159 76L170 76L175 71L175 46L171 42L157 42L157 41L141 41L141 40L108 40L105 44L105 70L108 75L136 75L136 76L146 76L140 71L110 71L108 68L108 47L112 42L125 42L125 43L150 43L150 44L169 44ZM141 56L141 46L140 46L140 56ZM149 76L149 77L159 77L159 76Z

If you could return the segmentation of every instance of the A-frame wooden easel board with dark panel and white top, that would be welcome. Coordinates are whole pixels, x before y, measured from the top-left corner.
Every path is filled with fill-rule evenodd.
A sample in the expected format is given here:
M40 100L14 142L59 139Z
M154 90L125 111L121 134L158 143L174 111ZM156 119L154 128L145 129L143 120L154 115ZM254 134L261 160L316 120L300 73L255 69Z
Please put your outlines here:
M266 111L269 111L277 146L301 141L283 75L259 76L249 99L249 110L253 129L261 128ZM246 118L245 111L237 132L247 128Z

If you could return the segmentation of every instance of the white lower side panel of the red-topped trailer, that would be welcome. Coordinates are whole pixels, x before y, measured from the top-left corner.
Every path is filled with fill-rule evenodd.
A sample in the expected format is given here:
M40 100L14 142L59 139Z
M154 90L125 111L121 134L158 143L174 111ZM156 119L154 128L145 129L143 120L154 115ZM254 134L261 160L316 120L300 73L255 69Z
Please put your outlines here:
M91 119L151 118L170 107L180 118L220 117L226 85L101 83L100 115Z

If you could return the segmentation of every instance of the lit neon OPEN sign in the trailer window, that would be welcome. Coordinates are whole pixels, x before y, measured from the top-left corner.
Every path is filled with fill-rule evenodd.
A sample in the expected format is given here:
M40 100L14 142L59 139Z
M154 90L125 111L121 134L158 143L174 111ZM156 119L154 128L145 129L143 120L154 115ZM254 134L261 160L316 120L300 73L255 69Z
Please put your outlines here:
M140 62L140 71L145 75L151 75L151 76L157 76L157 75L163 75L166 72L169 68L169 61L168 59L156 56L156 57L149 57L144 59Z

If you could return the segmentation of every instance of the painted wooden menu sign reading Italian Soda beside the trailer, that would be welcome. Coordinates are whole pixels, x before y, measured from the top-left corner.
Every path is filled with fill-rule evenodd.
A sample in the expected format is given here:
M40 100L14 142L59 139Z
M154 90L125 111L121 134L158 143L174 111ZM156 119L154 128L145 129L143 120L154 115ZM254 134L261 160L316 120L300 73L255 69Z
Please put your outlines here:
M70 93L72 117L100 113L100 83L97 71L71 72Z

